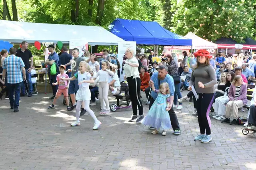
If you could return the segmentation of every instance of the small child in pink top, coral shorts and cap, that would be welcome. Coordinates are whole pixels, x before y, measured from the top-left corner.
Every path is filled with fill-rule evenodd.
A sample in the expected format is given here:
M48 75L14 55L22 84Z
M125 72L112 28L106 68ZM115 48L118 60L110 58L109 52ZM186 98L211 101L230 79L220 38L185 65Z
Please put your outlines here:
M57 82L52 83L53 86L59 85L56 96L53 100L53 104L51 104L48 109L52 109L54 105L56 104L57 99L62 95L64 95L64 98L66 100L67 110L70 110L69 107L69 101L68 101L68 87L69 87L69 81L67 80L61 80L60 78L68 78L68 75L65 74L66 66L60 65L60 74L57 75Z

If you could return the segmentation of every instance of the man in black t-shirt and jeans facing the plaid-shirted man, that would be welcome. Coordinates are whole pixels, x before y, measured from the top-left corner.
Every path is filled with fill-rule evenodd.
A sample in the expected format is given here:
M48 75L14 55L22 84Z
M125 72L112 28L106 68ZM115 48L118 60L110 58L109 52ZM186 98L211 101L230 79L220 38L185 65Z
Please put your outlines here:
M22 41L21 48L17 50L16 56L20 57L25 64L25 70L26 70L26 81L22 82L20 84L21 86L21 94L20 96L25 96L25 84L28 83L28 97L32 96L33 87L31 82L31 69L33 67L33 55L30 50L28 50L28 42ZM31 63L29 62L29 59Z

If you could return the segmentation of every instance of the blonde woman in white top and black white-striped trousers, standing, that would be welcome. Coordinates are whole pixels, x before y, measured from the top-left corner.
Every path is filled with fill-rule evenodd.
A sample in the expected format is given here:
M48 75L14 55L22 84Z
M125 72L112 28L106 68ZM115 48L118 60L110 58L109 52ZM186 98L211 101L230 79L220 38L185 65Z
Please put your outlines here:
M135 57L135 52L131 48L127 48L125 53L125 57L127 60L124 60L124 73L125 78L127 79L128 86L129 86L129 95L130 100L132 102L132 112L131 119L129 121L136 120L136 123L140 124L142 119L145 117L143 115L143 106L140 100L140 73L138 70L139 63ZM137 115L137 106L139 109L139 116Z

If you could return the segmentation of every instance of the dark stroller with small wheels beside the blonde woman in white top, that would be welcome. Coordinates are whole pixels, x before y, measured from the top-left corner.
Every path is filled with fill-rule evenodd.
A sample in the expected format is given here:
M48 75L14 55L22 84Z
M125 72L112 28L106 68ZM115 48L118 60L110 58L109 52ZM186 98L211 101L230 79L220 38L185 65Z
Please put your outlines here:
M117 109L128 109L132 107L132 102L130 102L130 96L129 96L129 88L126 80L120 82L120 84L121 84L120 94L114 95L116 97L117 104L111 105L110 107L111 111L116 111ZM124 93L121 93L122 91ZM122 98L125 98L126 103L120 104L120 100Z

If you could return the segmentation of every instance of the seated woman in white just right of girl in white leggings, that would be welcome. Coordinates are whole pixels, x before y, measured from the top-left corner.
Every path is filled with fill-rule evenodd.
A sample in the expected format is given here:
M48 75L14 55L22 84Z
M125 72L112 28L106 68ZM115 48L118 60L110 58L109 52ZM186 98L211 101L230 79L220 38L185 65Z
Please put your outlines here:
M121 85L117 75L117 70L116 70L117 66L114 64L110 64L109 68L112 72L114 72L114 75L109 76L108 78L108 87L109 87L108 95L113 96L120 93Z

